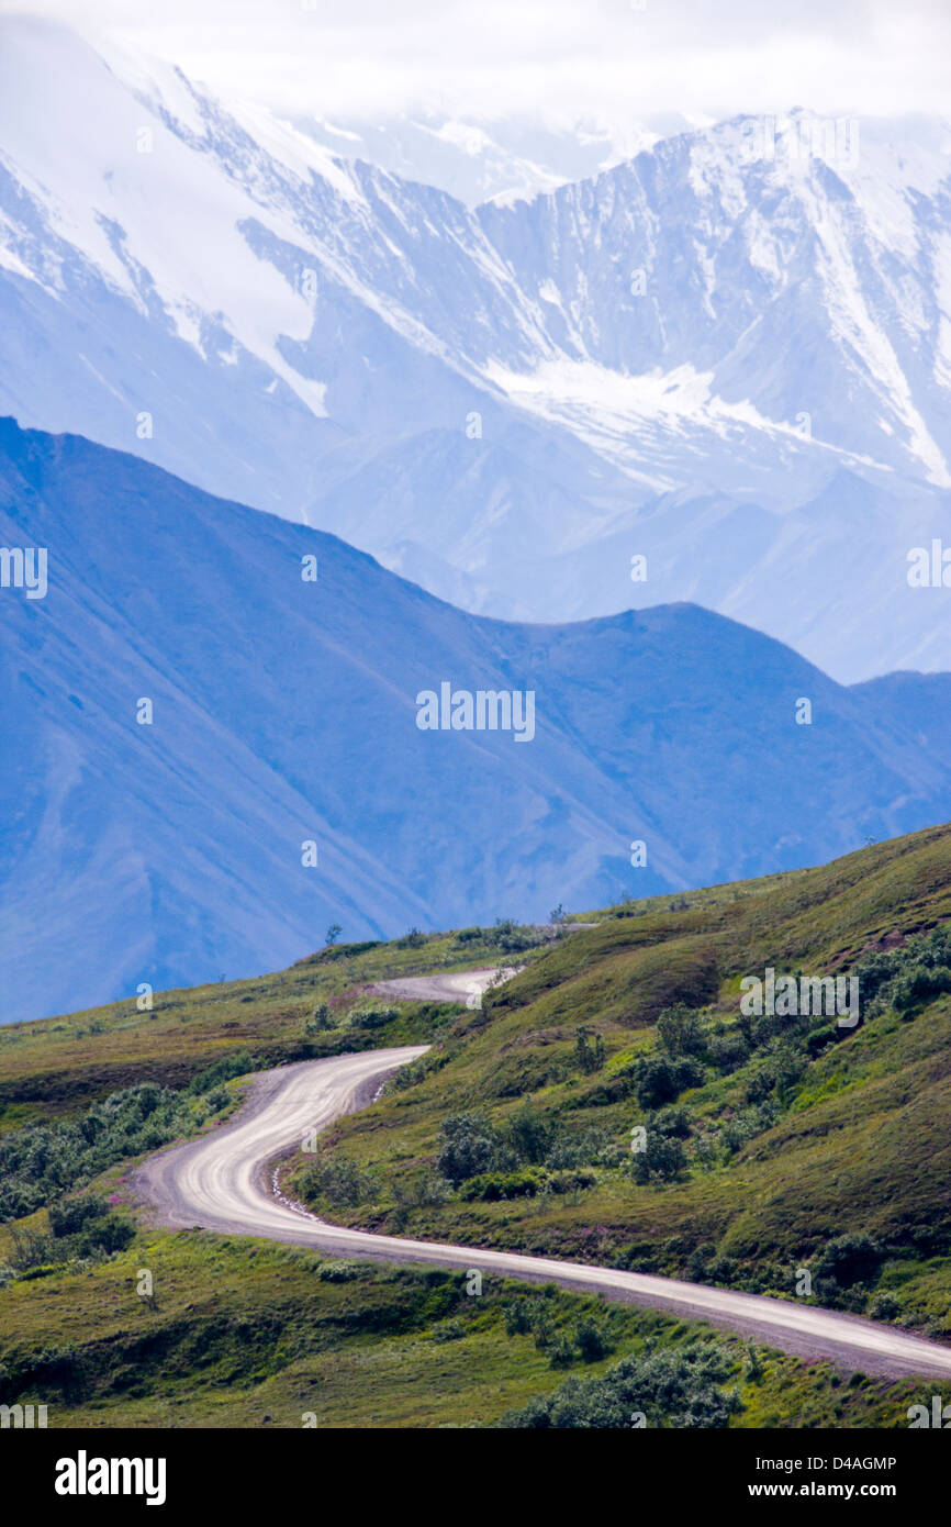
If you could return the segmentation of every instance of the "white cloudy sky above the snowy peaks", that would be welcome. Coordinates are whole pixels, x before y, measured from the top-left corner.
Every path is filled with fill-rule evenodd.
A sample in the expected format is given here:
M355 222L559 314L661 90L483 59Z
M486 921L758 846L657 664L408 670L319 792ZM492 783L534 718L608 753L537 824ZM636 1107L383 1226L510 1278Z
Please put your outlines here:
M0 0L318 116L951 116L951 0Z

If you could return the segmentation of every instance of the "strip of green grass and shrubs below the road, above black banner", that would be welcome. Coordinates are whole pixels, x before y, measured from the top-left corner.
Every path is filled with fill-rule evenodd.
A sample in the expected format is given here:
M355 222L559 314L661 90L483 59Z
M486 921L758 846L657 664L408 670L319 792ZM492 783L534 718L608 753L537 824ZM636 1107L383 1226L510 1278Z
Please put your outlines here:
M487 1278L476 1298L464 1275L201 1232L140 1234L108 1261L17 1280L0 1312L0 1400L49 1405L53 1428L525 1425L513 1412L630 1359L664 1364L659 1393L633 1390L650 1426L682 1425L678 1388L751 1428L905 1426L910 1405L951 1399L948 1383L847 1380L554 1287Z

